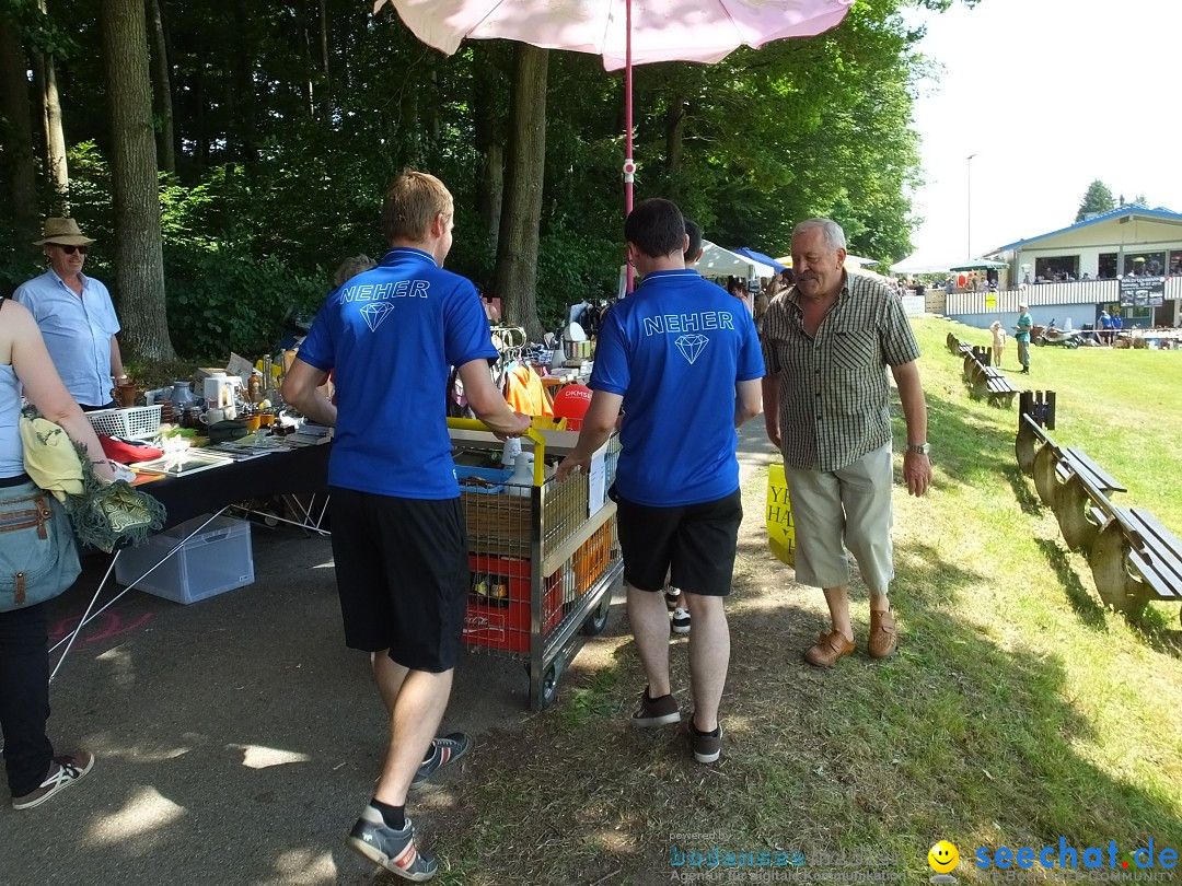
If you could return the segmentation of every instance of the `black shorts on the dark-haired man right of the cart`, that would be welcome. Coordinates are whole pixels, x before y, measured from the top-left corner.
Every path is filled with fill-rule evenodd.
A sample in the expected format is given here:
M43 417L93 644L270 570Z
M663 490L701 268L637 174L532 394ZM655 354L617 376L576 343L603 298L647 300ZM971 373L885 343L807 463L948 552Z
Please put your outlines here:
M735 566L735 545L742 522L742 496L652 508L621 497L616 523L624 554L624 581L639 591L661 591L669 584L691 594L726 597Z

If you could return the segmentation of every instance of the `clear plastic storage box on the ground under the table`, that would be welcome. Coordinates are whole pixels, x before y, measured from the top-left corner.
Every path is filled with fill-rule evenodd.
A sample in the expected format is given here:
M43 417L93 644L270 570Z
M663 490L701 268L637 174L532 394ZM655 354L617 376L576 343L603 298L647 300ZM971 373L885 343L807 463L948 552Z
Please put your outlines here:
M195 517L152 535L138 547L124 549L115 563L116 580L126 587L135 587L183 604L204 600L207 597L252 584L254 552L251 547L251 525L245 520L227 516L214 519L204 529L186 541L176 553L161 562L160 567L139 579L176 547L181 539L208 519L208 514Z

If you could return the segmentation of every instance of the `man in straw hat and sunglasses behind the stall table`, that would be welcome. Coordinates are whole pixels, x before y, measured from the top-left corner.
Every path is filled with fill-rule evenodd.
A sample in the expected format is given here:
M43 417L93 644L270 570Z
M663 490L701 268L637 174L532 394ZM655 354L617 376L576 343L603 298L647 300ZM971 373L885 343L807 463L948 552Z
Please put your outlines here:
M41 247L50 269L13 293L41 327L58 374L84 411L112 408L112 380L115 385L126 380L111 294L82 273L93 242L73 219L46 219L33 246Z

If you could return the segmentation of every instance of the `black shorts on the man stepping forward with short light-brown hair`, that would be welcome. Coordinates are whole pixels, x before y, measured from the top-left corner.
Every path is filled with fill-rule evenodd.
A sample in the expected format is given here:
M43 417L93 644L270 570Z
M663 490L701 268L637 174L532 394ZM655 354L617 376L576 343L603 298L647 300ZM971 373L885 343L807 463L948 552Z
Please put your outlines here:
M468 605L468 535L459 499L396 499L332 488L332 556L345 644L390 650L403 667L455 667Z

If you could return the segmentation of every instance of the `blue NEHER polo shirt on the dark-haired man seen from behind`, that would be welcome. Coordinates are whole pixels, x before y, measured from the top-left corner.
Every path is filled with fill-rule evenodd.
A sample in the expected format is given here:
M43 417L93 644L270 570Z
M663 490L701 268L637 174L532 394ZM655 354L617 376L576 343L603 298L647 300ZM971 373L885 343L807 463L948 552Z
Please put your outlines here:
M764 377L751 313L696 271L658 271L604 315L592 390L622 395L616 489L677 507L739 488L735 384Z

